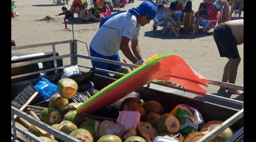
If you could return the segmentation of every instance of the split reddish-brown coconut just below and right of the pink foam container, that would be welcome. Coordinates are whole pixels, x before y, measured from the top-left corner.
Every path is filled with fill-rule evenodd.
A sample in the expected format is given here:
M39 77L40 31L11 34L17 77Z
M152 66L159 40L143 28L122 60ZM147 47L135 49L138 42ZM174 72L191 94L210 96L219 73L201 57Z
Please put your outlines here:
M157 130L148 122L139 122L136 131L138 136L146 139L148 142L152 142L157 137Z

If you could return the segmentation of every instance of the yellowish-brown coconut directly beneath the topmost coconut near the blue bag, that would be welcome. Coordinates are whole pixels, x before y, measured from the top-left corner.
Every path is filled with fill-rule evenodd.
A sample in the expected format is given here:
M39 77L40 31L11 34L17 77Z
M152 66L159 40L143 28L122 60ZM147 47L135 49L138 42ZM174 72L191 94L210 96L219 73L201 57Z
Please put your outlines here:
M49 107L60 110L64 105L68 104L68 99L62 98L59 94L51 96L49 101Z

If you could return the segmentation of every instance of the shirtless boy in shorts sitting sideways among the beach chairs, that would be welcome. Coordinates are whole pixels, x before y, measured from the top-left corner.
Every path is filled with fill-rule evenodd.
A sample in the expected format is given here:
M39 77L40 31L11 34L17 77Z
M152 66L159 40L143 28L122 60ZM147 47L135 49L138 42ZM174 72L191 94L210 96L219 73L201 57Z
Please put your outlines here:
M168 10L166 12L165 15L165 25L169 25L173 31L173 33L175 34L175 37L178 38L178 36L181 36L179 34L182 22L180 21L180 18L175 14L174 10L176 9L177 3L176 2L172 2L170 4L170 10ZM174 20L174 16L178 19L178 23L176 23L176 21ZM177 26L178 24L178 29L177 29L177 33L174 29L174 26Z

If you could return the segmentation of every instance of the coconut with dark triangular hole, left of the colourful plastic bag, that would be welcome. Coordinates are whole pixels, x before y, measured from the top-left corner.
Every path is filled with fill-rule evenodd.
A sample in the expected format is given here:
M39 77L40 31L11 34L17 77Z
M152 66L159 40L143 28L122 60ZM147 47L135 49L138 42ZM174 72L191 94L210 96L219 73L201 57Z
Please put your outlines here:
M179 120L172 114L165 113L157 121L158 133L176 134L180 130Z

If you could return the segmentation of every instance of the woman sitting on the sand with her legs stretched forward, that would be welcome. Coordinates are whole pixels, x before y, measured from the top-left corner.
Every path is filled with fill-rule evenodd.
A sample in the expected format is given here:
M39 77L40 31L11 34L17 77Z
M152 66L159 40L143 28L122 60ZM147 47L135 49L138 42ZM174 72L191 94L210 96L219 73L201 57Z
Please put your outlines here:
M80 10L80 18L86 21L101 21L100 18L97 18L92 14L92 11L88 12L87 6L87 3L83 3L82 8Z

